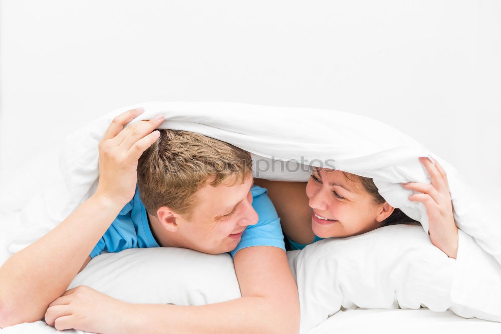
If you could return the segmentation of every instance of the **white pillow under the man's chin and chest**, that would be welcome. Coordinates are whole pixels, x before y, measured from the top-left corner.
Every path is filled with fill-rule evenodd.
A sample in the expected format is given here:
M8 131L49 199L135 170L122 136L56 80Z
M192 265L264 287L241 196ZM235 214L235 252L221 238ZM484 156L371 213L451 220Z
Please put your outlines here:
M229 254L132 248L94 257L69 288L88 285L134 303L204 305L241 296Z

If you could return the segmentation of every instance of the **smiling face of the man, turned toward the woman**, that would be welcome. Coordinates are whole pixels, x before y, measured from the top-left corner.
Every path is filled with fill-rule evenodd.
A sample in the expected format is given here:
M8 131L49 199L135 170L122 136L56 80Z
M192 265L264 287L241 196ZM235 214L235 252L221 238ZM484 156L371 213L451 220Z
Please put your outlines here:
M241 183L234 183L234 177L211 186L209 178L195 196L196 206L188 220L176 218L177 233L183 239L185 248L209 254L233 250L245 227L258 222L258 214L252 207L250 188L252 175Z

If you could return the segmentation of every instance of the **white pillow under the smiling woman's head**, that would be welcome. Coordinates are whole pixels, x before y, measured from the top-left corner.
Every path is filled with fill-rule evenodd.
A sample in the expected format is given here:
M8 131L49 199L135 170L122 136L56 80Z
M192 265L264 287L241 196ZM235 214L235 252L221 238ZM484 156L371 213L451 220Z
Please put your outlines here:
M292 259L306 331L342 308L445 311L455 260L421 226L392 225L349 238L321 240Z

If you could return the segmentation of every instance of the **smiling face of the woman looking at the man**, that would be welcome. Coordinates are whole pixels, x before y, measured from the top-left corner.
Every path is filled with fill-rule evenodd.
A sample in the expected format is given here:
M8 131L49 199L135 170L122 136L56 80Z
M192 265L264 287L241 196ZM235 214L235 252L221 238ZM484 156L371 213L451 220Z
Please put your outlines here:
M347 237L362 234L382 226L389 214L385 204L376 205L356 179L343 172L314 168L306 185L306 195L313 209L312 229L321 237ZM388 206L388 204L386 204Z

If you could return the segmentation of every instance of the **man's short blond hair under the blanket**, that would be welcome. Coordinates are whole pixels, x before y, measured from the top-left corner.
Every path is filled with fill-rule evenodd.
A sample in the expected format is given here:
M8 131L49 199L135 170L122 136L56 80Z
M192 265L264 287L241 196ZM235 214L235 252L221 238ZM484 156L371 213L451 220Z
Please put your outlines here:
M146 211L154 216L162 206L190 219L194 194L228 177L244 182L252 173L250 153L204 135L161 129L160 138L139 159L137 183Z

